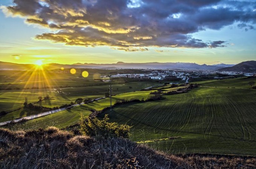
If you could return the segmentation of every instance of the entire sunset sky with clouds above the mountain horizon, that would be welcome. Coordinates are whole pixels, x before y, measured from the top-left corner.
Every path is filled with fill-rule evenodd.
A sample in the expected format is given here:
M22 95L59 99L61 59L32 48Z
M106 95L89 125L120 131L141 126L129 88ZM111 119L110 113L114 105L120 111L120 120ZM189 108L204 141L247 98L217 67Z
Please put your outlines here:
M0 61L256 60L256 0L2 0Z

